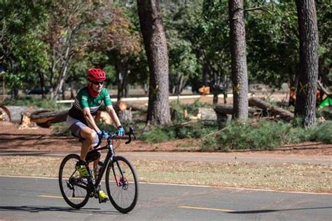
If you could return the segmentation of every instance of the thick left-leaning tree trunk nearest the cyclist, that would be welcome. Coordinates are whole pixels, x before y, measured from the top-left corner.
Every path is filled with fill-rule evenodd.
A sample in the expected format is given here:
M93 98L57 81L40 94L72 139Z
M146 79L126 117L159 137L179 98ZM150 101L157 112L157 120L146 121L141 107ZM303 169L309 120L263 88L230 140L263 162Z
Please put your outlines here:
M156 0L137 0L139 22L143 35L150 88L146 125L170 123L167 43Z

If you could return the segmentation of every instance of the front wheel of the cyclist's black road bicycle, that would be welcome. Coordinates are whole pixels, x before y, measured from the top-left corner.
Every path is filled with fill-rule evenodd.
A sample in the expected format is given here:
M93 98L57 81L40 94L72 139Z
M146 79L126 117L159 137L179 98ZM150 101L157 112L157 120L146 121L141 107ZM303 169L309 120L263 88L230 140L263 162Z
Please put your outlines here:
M114 208L121 213L129 213L138 198L137 175L130 161L123 156L114 156L107 167L105 181Z

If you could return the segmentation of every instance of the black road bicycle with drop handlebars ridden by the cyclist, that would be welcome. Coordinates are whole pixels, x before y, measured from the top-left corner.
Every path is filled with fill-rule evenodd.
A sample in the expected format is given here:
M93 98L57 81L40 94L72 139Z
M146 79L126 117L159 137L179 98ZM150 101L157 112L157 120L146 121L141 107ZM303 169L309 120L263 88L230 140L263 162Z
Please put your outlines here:
M81 178L78 170L76 170L76 162L80 159L78 154L69 154L64 157L59 170L59 185L61 194L64 200L73 208L82 208L88 203L89 198L96 197L97 191L100 187L100 182L105 174L106 191L114 208L120 213L129 213L137 203L138 197L138 179L132 163L123 156L116 156L113 148L113 141L125 139L129 144L132 138L136 140L134 129L130 127L127 136L119 137L115 133L111 133L107 138L107 145L104 147L95 148L88 154L90 156L98 154L98 151L107 149L107 155L104 159L104 166L99 169L99 172L92 173L90 169L90 176L88 178ZM99 141L101 142L101 140ZM99 154L100 156L100 154ZM99 156L96 156L97 159ZM95 159L85 158L87 163L91 163ZM92 164L92 163L91 163Z

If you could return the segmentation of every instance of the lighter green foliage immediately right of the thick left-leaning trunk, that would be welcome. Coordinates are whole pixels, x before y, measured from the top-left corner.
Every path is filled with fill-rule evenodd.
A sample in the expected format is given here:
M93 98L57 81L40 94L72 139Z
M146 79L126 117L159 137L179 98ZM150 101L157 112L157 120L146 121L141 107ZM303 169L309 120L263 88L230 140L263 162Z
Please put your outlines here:
M193 42L186 39L184 28L188 27L188 19L192 19L192 5L170 4L162 8L165 23L167 50L170 66L170 93L179 94L183 88L197 79L201 73L201 65L195 55ZM195 19L198 15L196 15Z

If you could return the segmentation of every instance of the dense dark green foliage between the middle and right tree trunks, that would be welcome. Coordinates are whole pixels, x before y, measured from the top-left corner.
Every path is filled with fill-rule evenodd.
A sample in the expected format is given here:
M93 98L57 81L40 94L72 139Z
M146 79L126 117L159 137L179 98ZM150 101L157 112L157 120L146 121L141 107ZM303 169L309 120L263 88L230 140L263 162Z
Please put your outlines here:
M266 4L246 15L249 80L280 88L293 85L298 72L298 22L295 1ZM246 8L257 6L247 1Z

